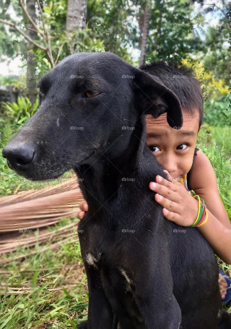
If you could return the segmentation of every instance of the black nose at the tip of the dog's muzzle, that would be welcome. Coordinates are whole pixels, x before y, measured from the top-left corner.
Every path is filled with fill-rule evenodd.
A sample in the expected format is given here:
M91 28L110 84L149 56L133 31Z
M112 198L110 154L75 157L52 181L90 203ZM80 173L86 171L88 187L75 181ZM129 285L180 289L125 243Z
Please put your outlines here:
M28 164L35 156L35 145L28 141L9 143L4 147L2 155L7 159L9 167L20 171L27 170Z

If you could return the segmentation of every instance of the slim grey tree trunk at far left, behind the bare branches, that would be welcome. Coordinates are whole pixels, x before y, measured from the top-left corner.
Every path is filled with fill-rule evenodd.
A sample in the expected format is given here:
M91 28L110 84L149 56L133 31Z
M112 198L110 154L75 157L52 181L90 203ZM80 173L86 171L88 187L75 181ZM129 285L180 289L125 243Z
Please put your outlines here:
M35 4L36 4L36 0L26 0L26 10L34 21L36 21ZM29 20L27 24L28 27L32 29L35 28L34 26L32 26ZM37 33L30 30L27 30L27 35L32 40L35 40L37 38ZM27 41L27 79L26 79L27 97L29 98L31 103L34 104L37 98L37 90L36 90L37 82L35 79L35 69L37 63L33 59L34 55L29 52L29 50L31 50L32 48L33 48L33 44Z

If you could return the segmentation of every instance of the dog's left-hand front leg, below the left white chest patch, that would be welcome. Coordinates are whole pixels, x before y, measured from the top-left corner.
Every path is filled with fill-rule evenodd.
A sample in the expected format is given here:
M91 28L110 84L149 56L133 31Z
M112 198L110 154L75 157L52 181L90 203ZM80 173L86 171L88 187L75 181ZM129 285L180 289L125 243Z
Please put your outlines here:
M88 329L112 329L114 314L103 291L99 272L87 264L85 269L89 291Z

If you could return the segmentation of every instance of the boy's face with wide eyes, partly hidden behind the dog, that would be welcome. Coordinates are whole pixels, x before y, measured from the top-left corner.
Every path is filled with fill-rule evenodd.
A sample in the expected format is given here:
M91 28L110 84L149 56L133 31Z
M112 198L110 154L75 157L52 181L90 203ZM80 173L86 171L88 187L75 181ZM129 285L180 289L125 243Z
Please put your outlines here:
M146 143L157 157L159 164L176 179L188 173L193 164L193 154L199 127L199 113L195 115L183 111L181 129L173 129L167 123L167 114L158 118L146 115Z

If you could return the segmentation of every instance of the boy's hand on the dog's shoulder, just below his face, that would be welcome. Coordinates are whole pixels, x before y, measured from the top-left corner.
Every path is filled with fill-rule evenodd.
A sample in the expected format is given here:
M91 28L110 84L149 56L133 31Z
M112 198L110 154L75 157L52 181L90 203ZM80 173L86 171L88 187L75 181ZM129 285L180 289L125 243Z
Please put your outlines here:
M167 170L164 171L170 182L157 175L156 183L149 184L149 188L157 193L155 201L163 207L162 213L167 219L181 226L190 226L198 214L198 201L181 183L174 180Z

